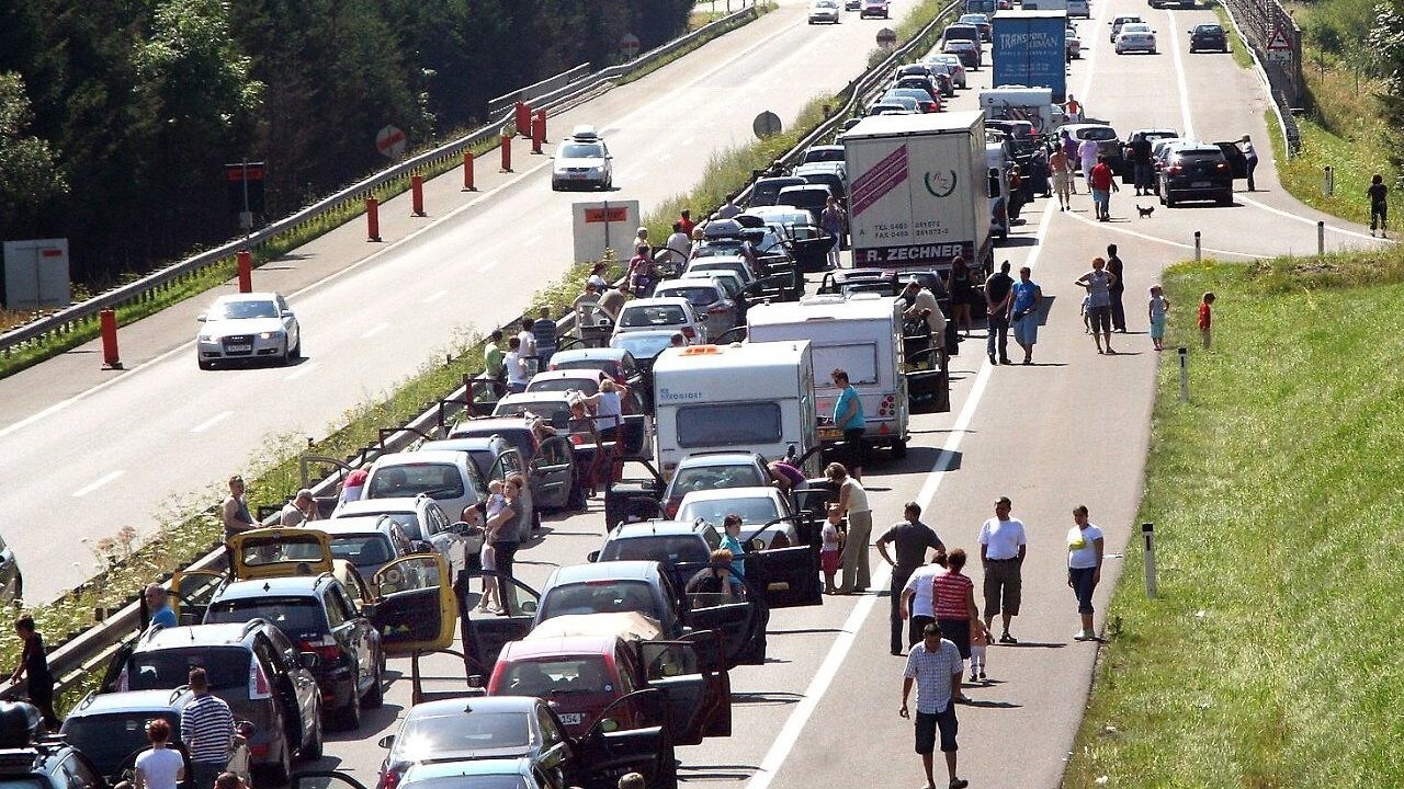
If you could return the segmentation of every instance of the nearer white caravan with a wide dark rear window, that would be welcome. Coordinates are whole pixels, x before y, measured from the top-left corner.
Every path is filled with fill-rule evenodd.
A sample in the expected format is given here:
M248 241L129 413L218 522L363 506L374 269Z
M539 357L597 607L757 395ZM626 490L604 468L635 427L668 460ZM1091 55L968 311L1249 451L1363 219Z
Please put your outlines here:
M653 364L654 441L665 479L695 452L750 451L769 460L819 446L807 341L668 348ZM806 460L817 477L819 452Z

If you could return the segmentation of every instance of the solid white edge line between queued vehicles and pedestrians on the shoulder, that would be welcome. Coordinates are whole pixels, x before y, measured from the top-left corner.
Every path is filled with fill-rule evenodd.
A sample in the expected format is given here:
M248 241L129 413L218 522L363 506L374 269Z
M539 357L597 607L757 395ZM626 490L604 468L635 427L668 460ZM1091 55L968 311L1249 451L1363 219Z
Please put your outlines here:
M1025 263L1029 268L1033 268L1038 261L1039 251L1043 248L1043 239L1047 237L1047 229L1052 219L1053 212L1045 211L1043 219L1039 220L1039 230L1036 234L1038 243L1029 251L1029 257ZM984 359L980 364L980 372L976 373L974 385L970 387L970 396L966 397L966 403L960 409L960 416L956 417L956 423L952 425L951 434L946 435L946 442L941 448L941 455L936 456L936 462L931 466L931 472L927 473L927 480L922 483L921 493L917 496L917 503L921 504L922 510L931 510L931 501L936 497L936 490L941 487L941 480L946 476L946 470L955 458L956 449L960 448L960 439L965 438L966 432L970 430L970 421L974 418L976 409L984 397L984 390L990 383L990 375L993 371L994 365L990 364L990 359ZM887 585L890 571L892 570L887 563L883 563L878 571L873 573L872 588L883 588ZM834 677L838 675L838 670L848 657L848 651L854 647L858 630L862 628L863 621L868 619L868 615L872 614L875 605L878 605L876 594L863 595L862 599L858 601L858 605L855 605L848 614L848 618L844 619L842 632L837 639L834 639L834 644L828 647L828 654L824 656L824 663L820 664L819 671L814 672L814 678L810 679L809 687L804 688L804 696L797 705L795 705L795 712L785 719L785 726L781 727L775 741L771 743L771 748L765 752L765 758L761 760L760 769L757 769L755 775L746 782L746 789L768 789L771 781L779 775L781 767L785 765L785 760L788 760L790 751L795 750L795 744L799 743L799 737L804 731L804 726L809 724L809 719L819 708L819 702L823 701L824 694L828 692L828 687L834 682Z

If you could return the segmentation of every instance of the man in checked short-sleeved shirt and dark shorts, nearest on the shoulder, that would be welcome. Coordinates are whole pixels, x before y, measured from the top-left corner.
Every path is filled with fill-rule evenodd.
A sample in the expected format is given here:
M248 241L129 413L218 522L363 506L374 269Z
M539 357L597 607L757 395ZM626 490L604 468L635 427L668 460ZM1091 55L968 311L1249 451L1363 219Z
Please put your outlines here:
M960 674L965 665L956 646L941 637L941 628L935 623L927 625L921 632L921 643L911 647L907 654L907 667L901 672L901 709L897 710L904 719L911 717L907 709L907 696L911 695L911 685L917 685L917 752L921 754L921 767L927 771L927 788L935 789L936 779L932 775L932 761L936 750L936 733L941 733L941 752L946 757L946 775L949 789L965 789L970 785L963 778L956 778L956 720L955 698L960 695Z

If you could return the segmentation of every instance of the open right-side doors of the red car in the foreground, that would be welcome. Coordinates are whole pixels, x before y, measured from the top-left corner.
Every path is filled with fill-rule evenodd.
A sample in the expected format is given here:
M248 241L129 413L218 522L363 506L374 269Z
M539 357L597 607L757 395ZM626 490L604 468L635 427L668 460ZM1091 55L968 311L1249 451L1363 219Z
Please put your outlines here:
M715 633L696 635L703 636L703 644L716 639ZM705 668L698 646L692 640L633 642L649 687L663 691L668 741L674 745L731 736L730 678L719 668Z

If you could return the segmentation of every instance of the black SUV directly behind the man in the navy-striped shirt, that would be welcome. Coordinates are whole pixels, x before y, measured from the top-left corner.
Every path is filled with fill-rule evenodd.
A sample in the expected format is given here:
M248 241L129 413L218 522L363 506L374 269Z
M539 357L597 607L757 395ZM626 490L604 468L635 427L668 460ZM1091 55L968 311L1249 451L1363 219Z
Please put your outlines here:
M263 619L153 628L117 651L98 692L176 691L191 668L204 668L211 692L234 717L254 724L253 767L282 783L293 758L322 757L322 699L305 661L282 630Z

